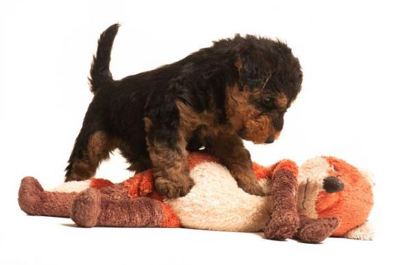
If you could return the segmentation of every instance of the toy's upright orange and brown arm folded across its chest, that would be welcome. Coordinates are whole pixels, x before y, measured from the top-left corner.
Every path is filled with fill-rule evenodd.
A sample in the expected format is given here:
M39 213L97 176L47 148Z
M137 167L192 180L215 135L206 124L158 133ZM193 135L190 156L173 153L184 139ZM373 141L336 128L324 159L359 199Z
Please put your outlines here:
M272 198L274 209L264 236L272 240L285 240L299 227L299 214L296 208L297 166L294 162L280 161L272 170Z

